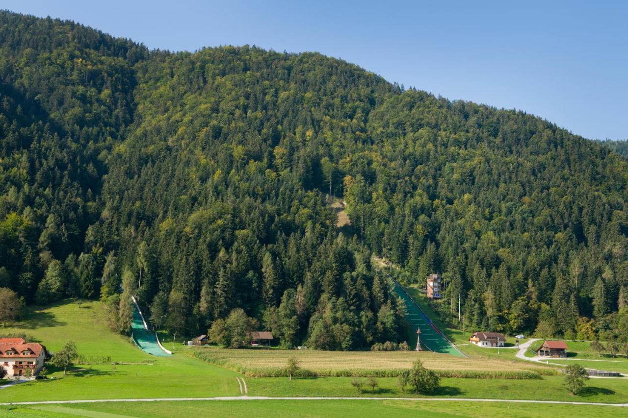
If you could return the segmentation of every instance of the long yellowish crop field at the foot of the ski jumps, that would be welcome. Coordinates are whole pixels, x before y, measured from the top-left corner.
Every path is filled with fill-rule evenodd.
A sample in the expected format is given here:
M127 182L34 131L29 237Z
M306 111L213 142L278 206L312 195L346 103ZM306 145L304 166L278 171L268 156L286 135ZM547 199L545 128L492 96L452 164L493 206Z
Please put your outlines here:
M458 358L415 351L231 350L195 347L190 354L205 362L249 377L281 377L288 357L301 364L298 377L398 377L417 358L439 377L535 379L555 375L554 369L516 362Z

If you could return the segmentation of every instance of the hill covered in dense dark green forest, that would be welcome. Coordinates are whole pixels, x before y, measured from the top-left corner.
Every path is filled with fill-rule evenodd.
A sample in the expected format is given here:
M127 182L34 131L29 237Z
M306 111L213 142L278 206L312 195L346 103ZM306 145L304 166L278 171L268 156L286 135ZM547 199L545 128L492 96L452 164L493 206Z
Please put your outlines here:
M101 297L124 332L138 293L187 335L246 314L286 346L365 348L402 339L377 254L443 272L467 328L628 337L628 163L538 117L9 12L0 75L0 287L29 303Z

